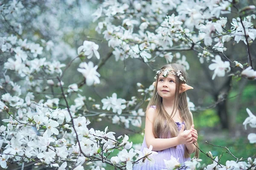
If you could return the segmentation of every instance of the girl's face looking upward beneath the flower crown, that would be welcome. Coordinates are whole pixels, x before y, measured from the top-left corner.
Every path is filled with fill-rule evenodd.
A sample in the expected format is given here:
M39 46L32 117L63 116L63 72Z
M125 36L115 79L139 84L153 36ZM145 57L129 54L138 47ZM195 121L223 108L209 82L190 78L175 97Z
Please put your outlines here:
M176 75L168 75L167 77L163 77L163 74L159 75L157 82L157 93L166 99L172 99L175 97L175 89L176 89Z

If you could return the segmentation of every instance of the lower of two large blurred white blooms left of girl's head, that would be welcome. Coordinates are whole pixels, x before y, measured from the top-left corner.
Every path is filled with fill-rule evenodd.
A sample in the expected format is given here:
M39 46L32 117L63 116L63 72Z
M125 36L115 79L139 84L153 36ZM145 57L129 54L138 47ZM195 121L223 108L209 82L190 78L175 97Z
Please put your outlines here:
M84 78L86 78L88 86L100 83L100 74L97 72L98 66L93 67L93 62L89 61L88 64L85 62L80 63L79 67L77 71L81 72Z

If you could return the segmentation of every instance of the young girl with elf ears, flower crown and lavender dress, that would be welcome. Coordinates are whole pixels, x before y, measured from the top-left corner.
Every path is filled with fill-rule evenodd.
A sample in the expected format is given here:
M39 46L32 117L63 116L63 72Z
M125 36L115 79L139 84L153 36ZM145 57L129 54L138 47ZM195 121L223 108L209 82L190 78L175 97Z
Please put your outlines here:
M134 170L166 169L163 159L175 157L181 165L190 160L190 154L199 156L198 134L194 129L192 113L188 109L186 90L193 89L186 84L187 73L180 64L168 64L157 71L154 94L146 110L145 136L141 151L153 146L157 155L152 155L155 164L148 160ZM185 130L185 131L184 131Z

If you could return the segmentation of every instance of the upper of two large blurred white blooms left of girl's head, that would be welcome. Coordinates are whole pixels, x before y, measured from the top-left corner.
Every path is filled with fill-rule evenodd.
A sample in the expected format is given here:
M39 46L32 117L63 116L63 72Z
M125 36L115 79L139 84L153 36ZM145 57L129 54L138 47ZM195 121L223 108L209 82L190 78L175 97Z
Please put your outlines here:
M98 49L99 49L99 45L97 45L94 42L85 40L83 45L78 47L77 53L78 55L80 55L81 52L84 52L84 55L87 55L88 59L92 58L94 53L96 58L99 59L99 52L97 51Z

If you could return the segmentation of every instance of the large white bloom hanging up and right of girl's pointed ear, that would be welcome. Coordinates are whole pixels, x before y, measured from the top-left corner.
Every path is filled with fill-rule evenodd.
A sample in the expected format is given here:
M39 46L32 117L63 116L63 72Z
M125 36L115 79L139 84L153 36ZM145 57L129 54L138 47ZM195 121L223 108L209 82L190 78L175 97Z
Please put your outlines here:
M230 63L228 61L223 62L219 55L216 55L215 60L212 60L212 62L215 62L209 65L209 69L214 70L212 80L216 77L216 75L219 77L224 77L225 69L228 69L227 72L230 71Z

